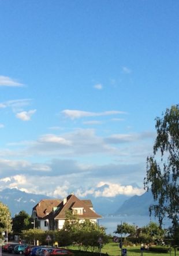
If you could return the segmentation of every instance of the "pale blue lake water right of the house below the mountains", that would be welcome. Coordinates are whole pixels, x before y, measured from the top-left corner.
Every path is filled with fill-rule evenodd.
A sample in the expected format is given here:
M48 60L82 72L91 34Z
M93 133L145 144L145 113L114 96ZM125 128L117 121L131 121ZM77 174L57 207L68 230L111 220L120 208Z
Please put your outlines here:
M135 225L138 228L146 226L152 222L158 223L158 220L154 217L150 218L149 216L122 216L122 215L113 215L113 216L104 216L99 220L99 226L104 226L106 228L106 233L114 235L114 231L117 229L117 225L122 222L127 222L128 224ZM167 228L170 225L170 221L163 222L163 228Z

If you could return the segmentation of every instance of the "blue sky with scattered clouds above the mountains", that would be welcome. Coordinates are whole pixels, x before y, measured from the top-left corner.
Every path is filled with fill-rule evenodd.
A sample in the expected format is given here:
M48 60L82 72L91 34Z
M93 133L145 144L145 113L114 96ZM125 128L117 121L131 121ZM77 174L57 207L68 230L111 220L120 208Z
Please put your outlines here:
M178 103L178 10L0 0L0 189L144 192L154 119Z

